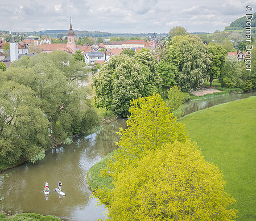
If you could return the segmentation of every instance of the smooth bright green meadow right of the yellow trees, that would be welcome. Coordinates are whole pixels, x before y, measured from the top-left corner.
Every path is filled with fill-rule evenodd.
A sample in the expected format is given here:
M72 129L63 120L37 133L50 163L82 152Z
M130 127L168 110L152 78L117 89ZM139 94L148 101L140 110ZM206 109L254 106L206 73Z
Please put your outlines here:
M195 112L180 122L205 159L223 172L226 192L237 200L237 220L256 220L256 97Z

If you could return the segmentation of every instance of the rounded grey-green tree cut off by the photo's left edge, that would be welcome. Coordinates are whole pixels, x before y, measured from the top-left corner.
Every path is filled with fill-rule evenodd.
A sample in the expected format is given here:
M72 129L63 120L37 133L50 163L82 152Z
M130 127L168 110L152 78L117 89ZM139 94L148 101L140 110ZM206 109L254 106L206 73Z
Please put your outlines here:
M31 160L49 147L48 120L31 88L0 84L0 162Z

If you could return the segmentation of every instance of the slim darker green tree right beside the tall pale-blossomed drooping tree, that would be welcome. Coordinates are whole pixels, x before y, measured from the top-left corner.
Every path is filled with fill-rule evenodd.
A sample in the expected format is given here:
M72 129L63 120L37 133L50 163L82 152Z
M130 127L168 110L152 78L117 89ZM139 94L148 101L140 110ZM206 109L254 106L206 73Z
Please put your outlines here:
M220 45L209 45L210 68L208 70L210 87L213 79L218 78L225 65L226 51Z

